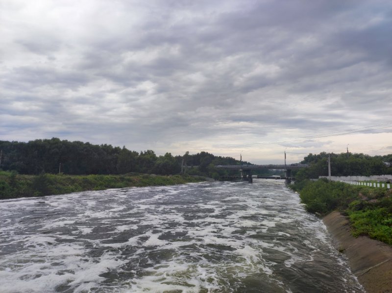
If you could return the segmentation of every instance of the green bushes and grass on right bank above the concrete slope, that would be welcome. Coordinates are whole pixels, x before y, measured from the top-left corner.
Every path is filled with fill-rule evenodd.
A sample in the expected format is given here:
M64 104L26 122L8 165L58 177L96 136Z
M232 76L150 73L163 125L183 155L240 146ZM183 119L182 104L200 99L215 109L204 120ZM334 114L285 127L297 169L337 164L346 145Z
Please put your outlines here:
M306 210L326 215L340 211L350 220L354 236L367 235L392 245L392 191L327 180L292 185Z

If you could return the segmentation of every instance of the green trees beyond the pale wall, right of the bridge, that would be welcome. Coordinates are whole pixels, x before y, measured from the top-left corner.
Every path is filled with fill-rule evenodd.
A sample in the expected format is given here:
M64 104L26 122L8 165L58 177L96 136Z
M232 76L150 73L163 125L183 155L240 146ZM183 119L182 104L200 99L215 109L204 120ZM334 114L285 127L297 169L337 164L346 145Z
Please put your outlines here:
M332 176L392 174L392 168L385 164L392 163L392 154L369 156L362 153L331 153L330 156ZM301 163L309 164L310 168L296 172L295 178L298 180L328 175L328 153L326 152L309 154Z

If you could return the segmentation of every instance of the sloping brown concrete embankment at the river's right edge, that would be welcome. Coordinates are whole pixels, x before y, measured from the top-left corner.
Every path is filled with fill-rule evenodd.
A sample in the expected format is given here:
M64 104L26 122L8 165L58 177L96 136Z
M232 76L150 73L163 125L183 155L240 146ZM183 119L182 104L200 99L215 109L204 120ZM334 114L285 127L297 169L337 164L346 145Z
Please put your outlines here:
M336 249L348 258L351 271L368 293L392 293L392 247L366 236L351 235L348 220L339 212L323 218Z

